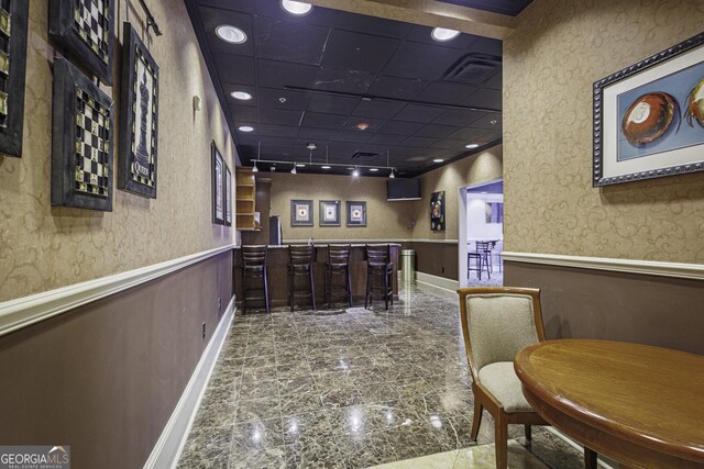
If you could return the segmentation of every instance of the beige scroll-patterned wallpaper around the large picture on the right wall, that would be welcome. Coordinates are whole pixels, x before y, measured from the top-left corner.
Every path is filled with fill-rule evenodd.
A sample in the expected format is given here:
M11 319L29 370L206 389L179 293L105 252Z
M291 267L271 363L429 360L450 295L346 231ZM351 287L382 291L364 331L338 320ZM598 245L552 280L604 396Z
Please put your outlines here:
M591 187L592 85L700 33L697 0L536 0L504 43L505 248L704 263L704 174Z

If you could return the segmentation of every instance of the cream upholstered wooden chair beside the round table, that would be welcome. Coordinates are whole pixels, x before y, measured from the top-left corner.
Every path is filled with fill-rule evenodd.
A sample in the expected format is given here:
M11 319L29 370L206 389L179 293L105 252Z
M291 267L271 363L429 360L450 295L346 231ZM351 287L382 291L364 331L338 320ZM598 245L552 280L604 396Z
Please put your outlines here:
M471 438L476 442L486 409L495 423L496 468L506 469L508 424L524 424L528 440L530 425L548 425L526 401L514 371L518 350L546 339L540 290L462 288L458 294L474 393Z

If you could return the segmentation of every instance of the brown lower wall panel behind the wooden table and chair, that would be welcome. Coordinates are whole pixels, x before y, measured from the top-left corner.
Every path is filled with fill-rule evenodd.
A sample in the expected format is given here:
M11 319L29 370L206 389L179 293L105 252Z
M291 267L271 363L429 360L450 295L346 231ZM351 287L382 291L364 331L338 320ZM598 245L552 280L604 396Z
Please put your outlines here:
M548 338L635 342L704 355L704 281L506 261L504 284L541 289Z

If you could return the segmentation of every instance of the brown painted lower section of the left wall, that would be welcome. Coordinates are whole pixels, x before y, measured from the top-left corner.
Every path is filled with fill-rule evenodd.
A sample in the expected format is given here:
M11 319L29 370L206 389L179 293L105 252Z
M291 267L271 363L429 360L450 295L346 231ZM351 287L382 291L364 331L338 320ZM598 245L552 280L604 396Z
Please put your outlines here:
M0 442L143 467L231 298L226 252L0 337Z

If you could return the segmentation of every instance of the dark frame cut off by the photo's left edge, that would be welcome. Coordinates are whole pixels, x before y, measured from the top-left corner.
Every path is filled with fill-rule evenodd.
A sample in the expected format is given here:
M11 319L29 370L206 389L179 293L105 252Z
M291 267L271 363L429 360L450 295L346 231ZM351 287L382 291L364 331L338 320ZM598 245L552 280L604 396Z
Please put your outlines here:
M26 25L30 2L4 0L0 9L0 153L22 156Z

